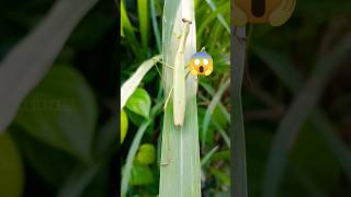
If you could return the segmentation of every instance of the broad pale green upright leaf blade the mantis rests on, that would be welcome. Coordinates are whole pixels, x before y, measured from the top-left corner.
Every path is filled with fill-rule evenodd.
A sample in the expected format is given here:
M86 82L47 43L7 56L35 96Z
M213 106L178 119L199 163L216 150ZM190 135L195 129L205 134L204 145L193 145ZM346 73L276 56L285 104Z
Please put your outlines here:
M193 1L166 0L162 24L163 61L173 65L178 39L173 35L182 32L182 18L190 19L190 34L185 44L185 62L196 51L196 31ZM163 69L166 95L172 86L172 70ZM177 81L176 81L177 82ZM160 166L160 197L201 196L201 163L199 148L197 82L192 77L186 79L186 112L184 125L174 127L172 102L169 102L163 116L161 162Z

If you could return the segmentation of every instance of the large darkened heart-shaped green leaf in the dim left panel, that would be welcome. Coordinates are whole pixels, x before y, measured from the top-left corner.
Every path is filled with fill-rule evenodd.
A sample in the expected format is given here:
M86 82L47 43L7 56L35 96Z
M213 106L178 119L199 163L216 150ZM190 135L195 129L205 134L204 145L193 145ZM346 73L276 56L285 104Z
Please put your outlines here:
M76 70L54 67L20 107L14 124L42 142L83 161L91 159L97 104Z

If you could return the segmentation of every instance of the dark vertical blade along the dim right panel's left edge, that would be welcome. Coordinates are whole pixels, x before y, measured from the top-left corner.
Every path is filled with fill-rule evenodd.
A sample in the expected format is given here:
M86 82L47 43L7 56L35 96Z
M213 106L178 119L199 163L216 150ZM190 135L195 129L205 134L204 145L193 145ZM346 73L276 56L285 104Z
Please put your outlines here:
M234 14L233 14L234 15ZM245 129L244 117L241 106L241 85L245 71L245 55L246 47L244 37L246 36L245 27L233 27L231 32L236 35L231 35L231 61L234 69L233 85L230 88L230 97L233 101L233 116L231 127L233 134L233 149L231 151L231 169L234 169L234 177L231 177L231 194L234 196L247 197L247 167L246 167L246 144L245 144Z

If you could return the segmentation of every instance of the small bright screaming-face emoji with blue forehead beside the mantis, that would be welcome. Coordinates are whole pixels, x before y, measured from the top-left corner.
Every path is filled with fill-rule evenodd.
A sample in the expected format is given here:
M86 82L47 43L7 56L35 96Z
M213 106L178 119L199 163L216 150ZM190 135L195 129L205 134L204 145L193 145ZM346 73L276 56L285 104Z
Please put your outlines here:
M210 76L213 71L213 59L210 54L202 48L200 53L194 54L190 60L190 72L196 76Z

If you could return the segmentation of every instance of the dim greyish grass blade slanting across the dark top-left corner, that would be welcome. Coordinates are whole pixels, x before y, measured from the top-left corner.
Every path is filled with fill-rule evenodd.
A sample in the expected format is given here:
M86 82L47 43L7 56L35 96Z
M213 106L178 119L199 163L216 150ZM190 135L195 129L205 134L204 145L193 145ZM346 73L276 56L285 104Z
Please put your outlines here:
M97 2L57 1L41 24L1 61L0 132L12 121L21 102L45 77L73 28Z

